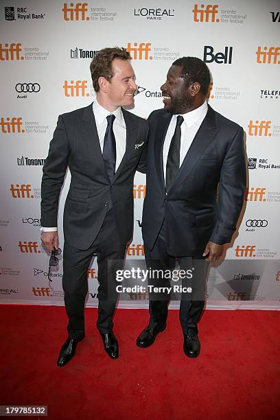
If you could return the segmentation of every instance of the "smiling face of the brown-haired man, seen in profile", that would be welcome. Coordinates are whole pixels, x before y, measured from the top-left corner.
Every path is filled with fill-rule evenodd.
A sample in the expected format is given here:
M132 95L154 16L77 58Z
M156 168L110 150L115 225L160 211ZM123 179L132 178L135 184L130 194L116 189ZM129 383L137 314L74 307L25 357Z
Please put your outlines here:
M132 106L134 104L133 93L137 89L135 84L135 72L128 60L115 58L112 62L113 78L106 80L100 77L100 91L97 92L97 100L110 111L119 106Z

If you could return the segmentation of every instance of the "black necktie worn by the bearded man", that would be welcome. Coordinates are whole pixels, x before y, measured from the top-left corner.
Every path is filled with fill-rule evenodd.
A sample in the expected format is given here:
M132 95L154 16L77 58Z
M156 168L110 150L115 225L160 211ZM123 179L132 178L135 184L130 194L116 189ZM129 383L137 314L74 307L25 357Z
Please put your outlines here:
M183 123L184 118L182 115L178 115L176 128L174 131L174 135L172 137L170 143L170 150L167 156L167 164L166 164L166 179L165 179L165 189L166 191L172 185L174 178L178 172L180 167L180 126Z

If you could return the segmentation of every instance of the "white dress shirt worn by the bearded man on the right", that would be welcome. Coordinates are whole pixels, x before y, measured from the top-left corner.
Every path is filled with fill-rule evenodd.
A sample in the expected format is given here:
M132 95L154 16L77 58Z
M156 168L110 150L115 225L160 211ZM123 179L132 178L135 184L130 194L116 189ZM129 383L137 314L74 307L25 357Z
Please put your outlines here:
M207 114L208 106L207 102L205 101L204 104L199 106L198 108L190 111L189 113L183 114L182 117L184 119L181 128L181 138L180 138L180 165L182 165L187 151L190 148L191 143L196 137L196 133L198 132L198 128L200 128L203 119ZM178 114L180 115L180 114ZM173 115L170 121L170 125L167 129L165 141L163 143L163 173L164 179L166 177L166 164L167 164L167 156L170 149L170 143L172 141L172 137L175 132L176 128L176 120L178 115Z

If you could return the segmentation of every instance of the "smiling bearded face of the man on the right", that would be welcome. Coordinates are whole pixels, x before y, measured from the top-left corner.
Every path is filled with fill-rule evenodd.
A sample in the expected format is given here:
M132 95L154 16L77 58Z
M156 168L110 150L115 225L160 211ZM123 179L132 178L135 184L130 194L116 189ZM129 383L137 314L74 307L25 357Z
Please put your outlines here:
M194 97L191 86L187 87L182 77L182 66L172 66L167 73L167 80L161 86L164 109L172 114L185 114L191 110Z

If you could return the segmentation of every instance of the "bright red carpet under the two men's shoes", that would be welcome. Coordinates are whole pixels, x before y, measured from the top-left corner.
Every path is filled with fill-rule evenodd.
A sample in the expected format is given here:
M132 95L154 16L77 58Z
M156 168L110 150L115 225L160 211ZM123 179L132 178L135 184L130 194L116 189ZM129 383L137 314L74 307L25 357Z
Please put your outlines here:
M45 405L48 419L279 419L280 312L207 311L197 359L183 353L178 312L148 349L145 310L117 310L110 360L86 310L86 339L64 368L64 307L0 305L1 405ZM41 417L43 419L44 417Z

